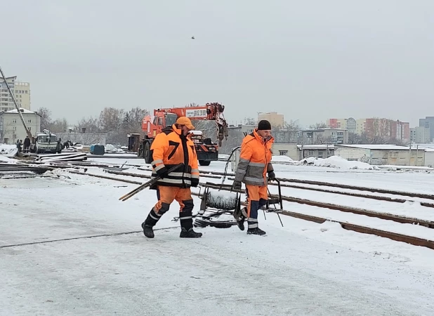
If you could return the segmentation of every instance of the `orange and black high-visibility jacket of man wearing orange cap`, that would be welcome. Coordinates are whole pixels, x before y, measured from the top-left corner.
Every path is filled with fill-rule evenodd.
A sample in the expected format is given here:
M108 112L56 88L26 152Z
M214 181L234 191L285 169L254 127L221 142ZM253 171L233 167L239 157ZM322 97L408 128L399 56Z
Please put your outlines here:
M195 143L190 138L181 136L181 133L182 131L176 129L175 125L168 126L152 142L150 148L152 178L156 177L157 171L164 167L171 169L177 164L184 164L183 168L157 180L157 185L185 188L191 186L192 178L199 180Z

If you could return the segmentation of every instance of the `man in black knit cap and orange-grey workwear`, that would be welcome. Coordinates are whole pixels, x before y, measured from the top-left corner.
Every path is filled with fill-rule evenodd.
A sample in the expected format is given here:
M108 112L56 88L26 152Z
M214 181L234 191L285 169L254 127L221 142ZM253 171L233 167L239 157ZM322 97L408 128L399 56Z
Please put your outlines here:
M246 185L249 204L246 214L240 214L237 217L237 225L240 230L244 230L244 216L246 216L247 234L249 235L265 235L265 232L258 228L258 209L267 204L268 179L275 178L275 172L271 164L271 146L273 142L271 124L267 120L262 120L259 121L258 128L247 135L241 144L241 153L232 189L241 190L242 182Z

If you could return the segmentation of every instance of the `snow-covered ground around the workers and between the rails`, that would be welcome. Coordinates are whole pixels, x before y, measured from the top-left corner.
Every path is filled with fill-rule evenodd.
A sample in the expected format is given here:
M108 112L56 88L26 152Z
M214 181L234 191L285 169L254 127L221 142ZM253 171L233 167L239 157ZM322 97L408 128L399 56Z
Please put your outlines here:
M88 160L145 166L142 159L128 157ZM224 168L224 162L200 167ZM276 164L275 170L282 178L413 192L429 192L434 179L430 173L322 166ZM133 167L126 172L150 174ZM282 228L272 213L267 220L262 213L259 217L267 237L232 227L199 228L202 239L180 239L179 222L171 221L178 216L176 202L157 224L156 237L146 239L140 223L156 202L154 191L119 202L137 185L54 173L58 176L0 179L0 315L434 315L431 249L330 222L281 216ZM201 179L206 181L221 182ZM390 213L394 208L399 214L426 212L428 218L420 205L343 200L288 188L283 194ZM199 199L194 199L197 210ZM284 207L324 217L337 212L293 203ZM347 215L341 219L375 220L339 216ZM413 229L430 234L428 228ZM98 235L105 236L92 237Z

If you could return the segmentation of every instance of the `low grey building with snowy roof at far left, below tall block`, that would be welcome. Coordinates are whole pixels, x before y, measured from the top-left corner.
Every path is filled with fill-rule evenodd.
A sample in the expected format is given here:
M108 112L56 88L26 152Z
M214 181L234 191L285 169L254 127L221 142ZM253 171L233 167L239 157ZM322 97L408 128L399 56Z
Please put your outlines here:
M32 135L41 131L41 117L36 112L20 109L27 128ZM17 110L0 112L0 143L13 144L23 140L27 133Z

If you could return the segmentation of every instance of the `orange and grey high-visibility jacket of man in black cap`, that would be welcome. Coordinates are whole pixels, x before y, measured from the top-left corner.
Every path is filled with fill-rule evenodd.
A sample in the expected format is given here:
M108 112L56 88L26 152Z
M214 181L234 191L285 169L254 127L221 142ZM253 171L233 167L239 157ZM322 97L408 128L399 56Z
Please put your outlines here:
M241 153L235 181L247 185L263 187L268 184L267 172L273 171L271 146L274 142L272 136L266 140L258 135L256 130L244 137L241 144Z

